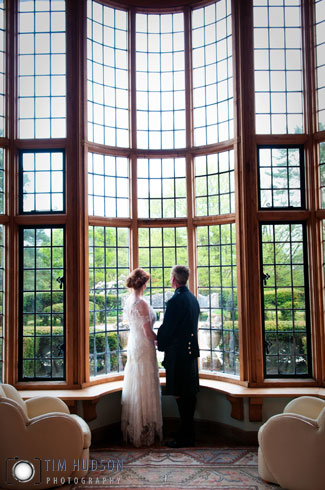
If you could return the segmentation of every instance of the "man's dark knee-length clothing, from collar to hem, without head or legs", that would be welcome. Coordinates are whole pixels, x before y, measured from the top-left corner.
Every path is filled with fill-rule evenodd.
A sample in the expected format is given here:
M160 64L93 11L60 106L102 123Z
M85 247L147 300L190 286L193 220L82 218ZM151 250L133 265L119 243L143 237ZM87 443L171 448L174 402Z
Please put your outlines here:
M167 395L192 395L199 391L199 314L199 303L186 286L176 289L167 302L157 338L158 350L165 352Z

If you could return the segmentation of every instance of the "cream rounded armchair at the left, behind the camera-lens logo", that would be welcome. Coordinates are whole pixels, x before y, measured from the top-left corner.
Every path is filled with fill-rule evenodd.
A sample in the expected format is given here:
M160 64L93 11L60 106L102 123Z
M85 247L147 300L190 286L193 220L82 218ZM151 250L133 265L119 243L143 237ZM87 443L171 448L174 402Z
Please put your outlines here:
M25 402L13 386L0 384L0 434L0 488L50 488L88 473L90 429L59 398L40 396ZM29 482L13 475L19 461L35 469Z

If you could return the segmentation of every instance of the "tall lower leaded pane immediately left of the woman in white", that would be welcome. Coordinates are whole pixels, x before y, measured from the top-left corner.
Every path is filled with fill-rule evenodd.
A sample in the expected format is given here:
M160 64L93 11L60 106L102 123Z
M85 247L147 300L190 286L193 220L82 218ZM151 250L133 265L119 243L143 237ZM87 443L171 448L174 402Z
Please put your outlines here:
M90 375L121 372L126 363L128 324L123 305L128 296L129 230L89 227Z

